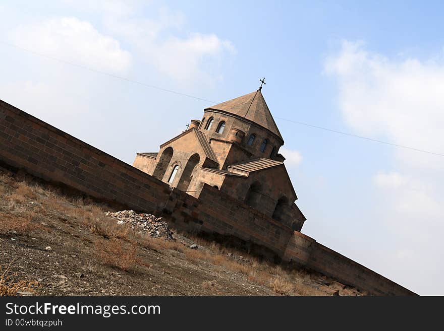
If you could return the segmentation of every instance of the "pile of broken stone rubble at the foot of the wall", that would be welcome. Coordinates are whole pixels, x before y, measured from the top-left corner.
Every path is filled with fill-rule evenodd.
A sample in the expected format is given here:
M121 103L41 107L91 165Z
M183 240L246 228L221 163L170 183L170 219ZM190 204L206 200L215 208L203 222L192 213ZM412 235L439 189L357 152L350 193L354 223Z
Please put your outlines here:
M173 232L161 217L157 218L151 214L137 214L133 210L123 210L116 213L106 212L105 215L117 219L117 224L128 224L132 229L151 237L174 240Z

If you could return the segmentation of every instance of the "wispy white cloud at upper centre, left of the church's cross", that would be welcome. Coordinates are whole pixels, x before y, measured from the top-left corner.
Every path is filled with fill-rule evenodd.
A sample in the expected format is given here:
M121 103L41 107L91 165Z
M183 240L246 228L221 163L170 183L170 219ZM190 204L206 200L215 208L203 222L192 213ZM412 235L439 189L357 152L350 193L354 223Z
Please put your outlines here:
M166 8L160 9L154 19L108 15L103 22L110 33L122 37L140 53L144 65L185 85L211 85L221 76L221 59L236 54L231 41L213 33L184 33L185 16Z

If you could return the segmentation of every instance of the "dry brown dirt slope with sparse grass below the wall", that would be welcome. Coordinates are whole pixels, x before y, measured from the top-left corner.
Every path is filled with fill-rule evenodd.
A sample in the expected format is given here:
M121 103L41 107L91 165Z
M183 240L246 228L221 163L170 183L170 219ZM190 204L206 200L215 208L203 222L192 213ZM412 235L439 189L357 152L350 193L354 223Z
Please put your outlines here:
M174 229L175 240L142 235L106 211L117 210L0 168L0 294L366 294Z

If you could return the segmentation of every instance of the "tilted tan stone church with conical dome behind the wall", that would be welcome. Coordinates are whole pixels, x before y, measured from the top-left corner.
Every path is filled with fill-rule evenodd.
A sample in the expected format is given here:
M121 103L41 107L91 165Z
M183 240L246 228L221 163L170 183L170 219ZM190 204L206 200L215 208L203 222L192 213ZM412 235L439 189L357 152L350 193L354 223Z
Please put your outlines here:
M279 149L284 139L261 88L204 109L201 120L160 145L137 153L134 167L196 196L202 182L300 231L306 218ZM197 196L196 196L197 197Z

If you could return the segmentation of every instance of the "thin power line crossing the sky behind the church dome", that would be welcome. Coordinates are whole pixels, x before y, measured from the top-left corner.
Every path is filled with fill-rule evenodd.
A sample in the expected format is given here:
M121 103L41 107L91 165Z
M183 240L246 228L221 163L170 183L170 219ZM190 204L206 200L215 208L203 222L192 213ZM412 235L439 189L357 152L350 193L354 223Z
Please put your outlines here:
M142 82L139 82L139 81L135 81L135 80L132 80L132 79L129 79L129 78L126 78L126 77L122 77L122 76L118 76L118 75L102 72L102 71L99 71L99 70L95 70L95 69L86 67L86 66L81 65L81 64L73 63L73 62L70 62L70 61L62 60L62 59L57 58L57 57L53 57L53 56L49 56L49 55L42 54L42 53L39 53L39 52L35 52L35 51L27 49L27 48L23 48L23 47L14 45L14 44L10 44L10 43L4 42L2 40L0 40L0 43L8 45L10 47L14 47L14 48L26 51L26 52L29 52L29 53L32 53L32 54L35 54L35 55L38 55L38 56L49 58L51 60L59 61L59 62L65 63L65 64L70 64L70 65L73 65L74 67L85 69L85 70L91 71L91 72L96 73L96 74L101 74L101 75L113 77L113 78L116 78L116 79L121 79L121 80L124 80L124 81L127 81L127 82L131 82L131 83L134 83L134 84L139 84L139 85L142 85L142 86L146 86L146 87L149 87L149 88L152 88L152 89L157 89L157 90L164 91L164 92L174 93L174 94L177 94L177 95L181 95L181 96L188 97L188 98L193 98L193 99L200 100L200 101L211 102L213 104L217 104L218 103L217 101L212 101L212 100L208 100L208 99L204 99L204 98L199 98L199 97L196 97L196 96L193 96L193 95L190 95L190 94L181 93L181 92L177 92L177 91L170 90L170 89L164 89L164 88L159 87L159 86L150 85L150 84L146 84L146 83L142 83ZM443 156L444 157L444 154L434 153L434 152L430 152L430 151L419 149L419 148L413 148L413 147L409 147L409 146L405 146L405 145L398 145L398 144L389 143L389 142L385 142L385 141L382 141L382 140L377 140L377 139L368 138L368 137L364 137L364 136L358 136L358 135L350 134L350 133L347 133L347 132L343 132L343 131L339 131L339 130L334 130L334 129L330 129L330 128L327 128L327 127L307 124L307 123L304 123L304 122L295 121L295 120L291 120L291 119L287 119L287 118L282 118L282 117L276 117L276 118L281 119L281 120L285 120L285 121L288 121L288 122L300 124L300 125L305 125L305 126L309 126L309 127L325 130L325 131L330 131L330 132L336 133L336 134L341 134L341 135L345 135L345 136L349 136L349 137L354 137L354 138L365 139L365 140L372 141L372 142L379 143L379 144L385 144L385 145L395 146L395 147L399 147L399 148L409 149L409 150L416 151L416 152L422 152L422 153L427 153L427 154L432 154L432 155L437 155L437 156Z

